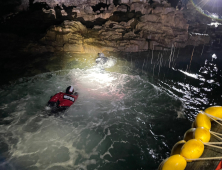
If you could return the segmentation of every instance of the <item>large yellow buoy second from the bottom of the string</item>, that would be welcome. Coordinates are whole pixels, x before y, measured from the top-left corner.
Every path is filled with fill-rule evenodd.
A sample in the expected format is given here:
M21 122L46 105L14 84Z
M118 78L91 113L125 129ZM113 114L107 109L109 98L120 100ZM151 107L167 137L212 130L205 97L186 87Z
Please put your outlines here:
M200 140L191 139L183 145L180 155L186 159L197 159L203 154L203 151L204 144Z

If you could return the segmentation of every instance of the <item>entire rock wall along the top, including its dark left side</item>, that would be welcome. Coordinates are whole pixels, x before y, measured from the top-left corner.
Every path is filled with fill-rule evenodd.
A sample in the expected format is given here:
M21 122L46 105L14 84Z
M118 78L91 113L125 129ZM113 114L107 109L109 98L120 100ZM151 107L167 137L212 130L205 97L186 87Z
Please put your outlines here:
M168 50L206 45L213 41L210 37L215 39L221 34L220 27L206 31L211 19L202 17L191 3L176 10L162 0L36 0L22 1L20 8L30 10L1 21L2 51Z

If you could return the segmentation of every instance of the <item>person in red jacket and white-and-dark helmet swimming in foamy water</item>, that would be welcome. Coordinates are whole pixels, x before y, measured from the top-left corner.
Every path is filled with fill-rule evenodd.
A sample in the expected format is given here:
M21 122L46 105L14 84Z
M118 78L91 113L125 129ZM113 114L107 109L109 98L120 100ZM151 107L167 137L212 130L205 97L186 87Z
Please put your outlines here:
M62 112L69 108L78 98L78 93L74 92L73 86L66 88L66 92L60 92L51 97L47 106L52 108L52 113Z

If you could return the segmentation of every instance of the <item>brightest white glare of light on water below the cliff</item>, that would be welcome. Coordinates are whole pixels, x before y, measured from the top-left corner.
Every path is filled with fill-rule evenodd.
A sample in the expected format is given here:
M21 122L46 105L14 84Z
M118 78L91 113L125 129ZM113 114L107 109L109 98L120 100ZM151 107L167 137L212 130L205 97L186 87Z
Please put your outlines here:
M125 94L126 79L130 77L124 74L106 72L98 68L78 70L70 72L73 84L76 85L77 91L81 96L91 98L109 99L112 97L122 99Z

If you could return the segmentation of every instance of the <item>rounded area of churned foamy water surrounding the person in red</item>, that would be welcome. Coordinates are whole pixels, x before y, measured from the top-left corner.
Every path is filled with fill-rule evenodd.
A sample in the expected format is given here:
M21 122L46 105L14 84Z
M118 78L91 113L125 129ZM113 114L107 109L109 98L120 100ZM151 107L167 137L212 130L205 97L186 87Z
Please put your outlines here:
M41 116L70 84L76 103L62 117ZM181 102L147 78L94 68L20 79L0 96L3 170L156 169L188 122L177 119Z

